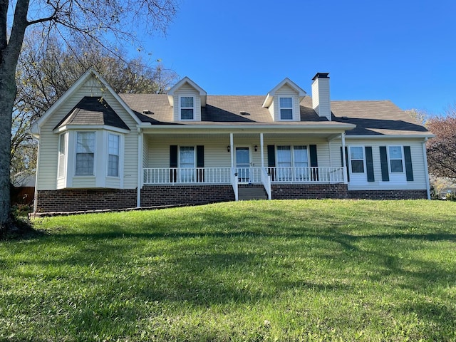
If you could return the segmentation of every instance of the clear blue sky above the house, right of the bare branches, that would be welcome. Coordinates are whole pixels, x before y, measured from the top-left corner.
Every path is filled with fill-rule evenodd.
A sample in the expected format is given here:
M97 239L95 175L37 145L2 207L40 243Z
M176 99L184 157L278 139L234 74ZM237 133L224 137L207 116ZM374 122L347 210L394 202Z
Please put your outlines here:
M456 1L182 0L146 51L213 95L266 95L285 77L333 100L392 100L444 113L456 103Z

